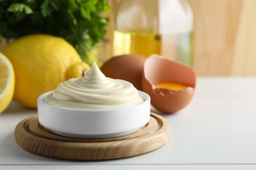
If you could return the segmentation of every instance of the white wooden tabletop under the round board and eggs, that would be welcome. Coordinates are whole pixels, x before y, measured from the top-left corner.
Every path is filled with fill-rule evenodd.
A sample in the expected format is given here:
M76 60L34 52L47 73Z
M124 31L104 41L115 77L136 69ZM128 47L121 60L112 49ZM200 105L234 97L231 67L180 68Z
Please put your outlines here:
M198 78L190 105L164 116L171 140L132 158L67 161L26 152L14 128L33 114L13 102L0 115L0 169L256 169L256 77Z

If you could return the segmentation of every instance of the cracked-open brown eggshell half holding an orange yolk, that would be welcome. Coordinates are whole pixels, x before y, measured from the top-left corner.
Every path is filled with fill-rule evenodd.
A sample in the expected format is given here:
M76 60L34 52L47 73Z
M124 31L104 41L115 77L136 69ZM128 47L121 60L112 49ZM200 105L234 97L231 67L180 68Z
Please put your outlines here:
M159 82L176 82L187 87L173 91L159 88ZM151 104L163 113L177 112L190 103L196 88L196 74L191 67L153 54L144 63L142 90L151 97Z

